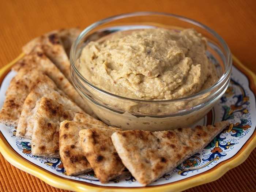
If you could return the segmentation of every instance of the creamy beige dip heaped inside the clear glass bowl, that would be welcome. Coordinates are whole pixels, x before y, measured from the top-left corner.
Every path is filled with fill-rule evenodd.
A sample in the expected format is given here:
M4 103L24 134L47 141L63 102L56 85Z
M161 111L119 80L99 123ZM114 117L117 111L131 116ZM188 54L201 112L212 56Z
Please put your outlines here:
M95 86L134 99L182 98L218 80L206 39L193 29L118 32L87 44L78 62Z

